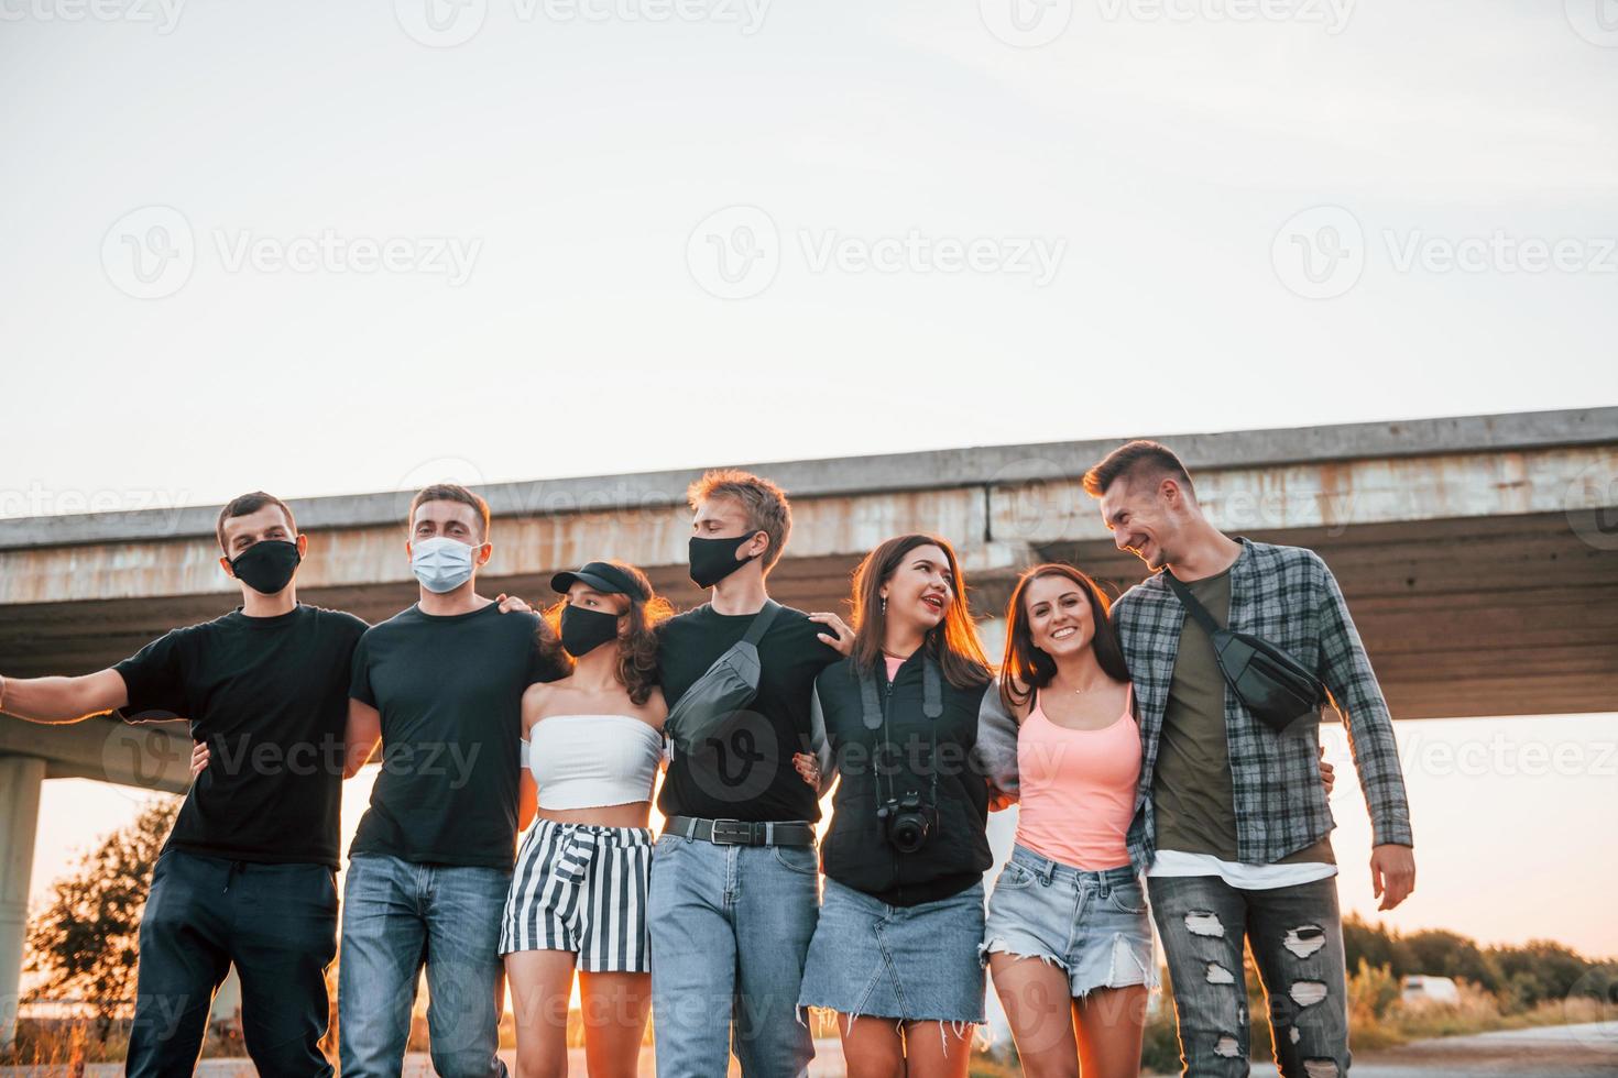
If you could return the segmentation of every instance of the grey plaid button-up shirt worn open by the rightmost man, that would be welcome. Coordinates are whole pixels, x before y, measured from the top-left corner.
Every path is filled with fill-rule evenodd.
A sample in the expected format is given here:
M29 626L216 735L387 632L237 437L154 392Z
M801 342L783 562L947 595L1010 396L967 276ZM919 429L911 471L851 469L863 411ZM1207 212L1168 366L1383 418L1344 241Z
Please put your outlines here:
M1372 842L1411 845L1393 719L1332 571L1319 554L1301 546L1239 541L1241 554L1230 569L1226 627L1277 645L1325 682L1348 729L1354 769L1370 808ZM1139 710L1141 784L1129 827L1129 860L1144 871L1155 853L1152 774L1180 634L1202 629L1186 617L1162 574L1125 592L1112 616ZM1335 824L1317 764L1319 739L1319 718L1299 719L1285 734L1277 734L1247 713L1230 685L1225 687L1238 860L1272 865L1332 831Z

